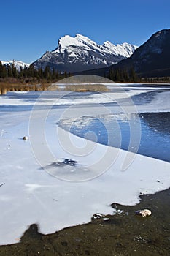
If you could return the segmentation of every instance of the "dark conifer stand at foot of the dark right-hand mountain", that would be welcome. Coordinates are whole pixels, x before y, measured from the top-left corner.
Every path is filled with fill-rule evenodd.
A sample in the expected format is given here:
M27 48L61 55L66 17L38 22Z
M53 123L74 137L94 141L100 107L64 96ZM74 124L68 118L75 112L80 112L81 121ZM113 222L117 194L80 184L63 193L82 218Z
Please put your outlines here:
M110 80L120 83L139 83L141 80L141 78L139 78L139 76L136 74L133 67L131 67L131 69L129 69L128 71L119 68L109 69L108 78Z

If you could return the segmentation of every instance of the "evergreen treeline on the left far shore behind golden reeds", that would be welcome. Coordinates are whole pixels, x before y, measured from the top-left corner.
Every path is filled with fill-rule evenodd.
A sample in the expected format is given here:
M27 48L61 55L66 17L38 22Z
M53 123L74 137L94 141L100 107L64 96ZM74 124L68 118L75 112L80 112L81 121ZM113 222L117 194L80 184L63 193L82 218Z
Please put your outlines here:
M23 80L26 83L30 81L47 80L49 82L53 80L60 80L62 78L67 78L70 73L58 72L57 70L51 70L50 67L45 67L45 69L35 69L34 65L29 67L20 67L17 69L14 64L2 64L0 61L0 78L17 78L18 80Z

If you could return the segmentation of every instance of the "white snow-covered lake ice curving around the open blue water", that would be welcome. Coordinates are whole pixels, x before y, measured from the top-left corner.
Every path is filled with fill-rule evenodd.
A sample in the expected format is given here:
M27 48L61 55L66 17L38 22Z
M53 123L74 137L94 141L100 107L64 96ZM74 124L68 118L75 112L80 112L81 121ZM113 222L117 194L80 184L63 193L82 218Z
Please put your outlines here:
M141 92L146 93L146 89L140 89ZM136 93L136 90L130 91L131 95ZM15 94L16 98L10 98L11 93L0 97L0 184L4 184L0 187L0 244L18 242L33 223L39 225L40 232L53 233L90 222L96 213L113 214L111 203L134 205L139 203L140 193L155 193L170 187L168 162L99 145L56 126L56 121L66 116L66 104L73 102L72 97L62 98L62 108L50 108L58 99L49 92L50 98L39 99L37 108L31 113L24 109L28 104L34 106L36 101L35 97L31 100L24 97L29 94L31 92L23 97ZM113 94L108 96L114 100ZM169 111L169 102L163 100L166 97L169 91L137 107L146 111L154 110L156 105L159 111L157 104L161 102L161 110ZM95 115L94 103L106 102L107 94L89 95L88 99L93 102L90 111ZM14 105L22 108L17 111ZM39 108L43 105L47 109ZM83 108L75 105L73 110L77 109L81 116L85 108L85 105ZM101 113L103 108L101 106L98 111ZM108 108L113 109L112 106ZM42 126L44 114L47 118ZM29 140L23 140L24 135L29 135ZM127 157L131 162L123 171ZM62 158L75 159L79 165L64 167L63 171L50 165Z

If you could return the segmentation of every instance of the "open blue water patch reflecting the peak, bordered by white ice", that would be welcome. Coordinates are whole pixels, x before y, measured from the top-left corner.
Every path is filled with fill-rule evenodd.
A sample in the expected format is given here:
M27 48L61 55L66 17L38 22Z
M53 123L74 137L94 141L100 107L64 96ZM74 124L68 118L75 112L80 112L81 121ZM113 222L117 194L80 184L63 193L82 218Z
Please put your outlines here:
M113 115L100 118L83 117L83 126L79 120L73 123L70 132L74 135L93 140L98 143L134 151L129 148L131 135L131 119L139 120L141 124L141 138L138 154L154 157L170 162L170 113L139 113L132 116ZM82 118L81 118L82 122ZM62 125L61 125L62 126ZM66 128L66 127L64 127ZM135 129L134 129L135 131ZM137 131L139 135L139 131ZM137 138L139 139L139 138ZM134 138L135 140L135 138ZM134 141L134 144L136 142ZM132 141L133 145L133 141Z

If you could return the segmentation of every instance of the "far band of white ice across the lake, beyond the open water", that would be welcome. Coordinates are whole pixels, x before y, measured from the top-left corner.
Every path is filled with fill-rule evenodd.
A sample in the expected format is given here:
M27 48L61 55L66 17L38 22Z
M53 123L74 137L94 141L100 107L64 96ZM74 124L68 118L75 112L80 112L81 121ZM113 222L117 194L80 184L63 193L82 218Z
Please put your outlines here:
M28 106L32 108L37 98L36 105L44 106L64 106L64 105L89 105L89 104L111 104L117 103L119 105L118 108L112 108L112 112L118 113L120 112L120 107L127 107L130 111L130 108L134 108L134 104L129 106L129 102L133 97L143 94L147 95L148 93L152 93L152 101L150 102L139 102L139 104L135 105L136 110L140 113L142 112L169 112L170 110L170 89L169 86L144 86L142 85L138 87L138 84L125 85L121 84L112 84L109 86L112 88L110 92L99 92L99 93L91 93L91 94L78 94L74 97L72 96L72 92L66 91L47 91L41 97L41 92L27 92L20 91L16 94L16 92L9 92L5 96L0 96L0 108L1 107L18 107L18 106ZM22 97L23 95L23 97ZM25 96L25 97L24 97ZM126 101L127 100L127 101ZM133 109L131 110L133 111Z

